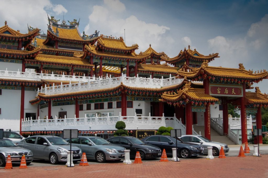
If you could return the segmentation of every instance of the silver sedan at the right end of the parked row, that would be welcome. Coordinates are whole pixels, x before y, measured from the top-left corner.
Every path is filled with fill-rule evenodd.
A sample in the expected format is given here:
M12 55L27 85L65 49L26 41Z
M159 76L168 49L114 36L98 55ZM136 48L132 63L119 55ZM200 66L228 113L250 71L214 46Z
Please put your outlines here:
M227 153L229 151L228 145L224 143L213 142L201 135L183 135L179 138L183 140L184 142L190 142L190 143L202 145L204 147L204 153L206 154L207 154L207 147L212 146L213 156L219 156L219 151L221 150L221 147L223 147L224 153Z

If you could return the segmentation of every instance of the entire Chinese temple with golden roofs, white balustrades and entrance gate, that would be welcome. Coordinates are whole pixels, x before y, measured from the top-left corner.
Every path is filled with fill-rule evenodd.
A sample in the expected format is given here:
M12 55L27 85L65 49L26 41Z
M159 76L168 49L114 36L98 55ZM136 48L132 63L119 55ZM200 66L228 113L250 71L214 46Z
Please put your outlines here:
M212 67L209 62L218 53L205 56L190 46L173 58L151 44L137 54L139 46L126 46L122 37L97 30L81 34L79 21L68 22L48 17L46 34L31 26L22 34L6 21L0 28L4 129L27 136L63 129L112 134L121 120L131 131L171 126L195 134L193 125L204 125L204 136L210 139L211 122L222 115L217 132L232 139L228 103L241 110L235 137L242 143L251 130L247 115L256 115L261 129L261 108L268 106L268 96L258 87L255 92L246 89L267 79L265 69Z

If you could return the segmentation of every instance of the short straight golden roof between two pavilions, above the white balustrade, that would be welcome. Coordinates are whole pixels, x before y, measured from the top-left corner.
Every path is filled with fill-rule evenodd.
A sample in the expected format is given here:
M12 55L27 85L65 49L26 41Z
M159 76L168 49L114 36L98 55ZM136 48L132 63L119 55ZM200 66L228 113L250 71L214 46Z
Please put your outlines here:
M138 71L163 72L163 73L173 73L173 74L176 74L178 72L176 67L163 66L161 64L157 64L157 65L139 64Z

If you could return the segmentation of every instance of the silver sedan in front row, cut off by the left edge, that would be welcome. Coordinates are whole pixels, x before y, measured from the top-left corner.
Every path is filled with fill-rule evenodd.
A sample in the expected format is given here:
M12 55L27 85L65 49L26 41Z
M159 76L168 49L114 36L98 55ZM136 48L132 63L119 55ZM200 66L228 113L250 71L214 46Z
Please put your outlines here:
M10 155L12 163L20 164L21 157L25 155L26 164L30 164L33 161L33 154L31 150L21 148L14 144L8 138L0 139L0 166L6 165L6 160Z

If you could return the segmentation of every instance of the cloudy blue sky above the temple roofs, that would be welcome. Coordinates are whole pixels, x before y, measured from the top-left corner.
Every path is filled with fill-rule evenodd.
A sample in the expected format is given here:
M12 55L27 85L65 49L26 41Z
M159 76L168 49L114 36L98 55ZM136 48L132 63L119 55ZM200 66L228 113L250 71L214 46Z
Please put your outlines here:
M219 53L209 65L268 70L268 1L157 0L0 0L0 23L20 32L27 24L47 31L47 14L65 21L79 19L80 33L124 37L127 45L149 44L169 57L188 45L204 55ZM124 30L125 29L125 30ZM124 34L125 32L125 34ZM268 79L259 84L268 93ZM251 90L255 91L255 90Z

